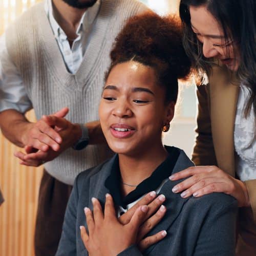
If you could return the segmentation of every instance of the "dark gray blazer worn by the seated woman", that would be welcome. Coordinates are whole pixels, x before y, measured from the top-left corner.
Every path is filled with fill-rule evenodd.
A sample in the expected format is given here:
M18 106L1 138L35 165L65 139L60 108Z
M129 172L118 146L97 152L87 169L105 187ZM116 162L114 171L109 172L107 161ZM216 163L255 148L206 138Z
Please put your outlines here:
M115 155L109 161L80 173L74 183L63 224L57 254L88 255L80 237L80 225L87 227L83 208L92 209L91 198L103 204L105 179L110 175ZM180 155L173 169L177 173L194 164L185 153ZM232 256L235 248L237 201L231 196L214 193L201 198L182 199L172 188L180 181L167 181L160 190L166 197L167 208L163 220L148 236L166 230L167 236L159 243L150 246L143 253L133 245L119 255L171 255L171 256Z

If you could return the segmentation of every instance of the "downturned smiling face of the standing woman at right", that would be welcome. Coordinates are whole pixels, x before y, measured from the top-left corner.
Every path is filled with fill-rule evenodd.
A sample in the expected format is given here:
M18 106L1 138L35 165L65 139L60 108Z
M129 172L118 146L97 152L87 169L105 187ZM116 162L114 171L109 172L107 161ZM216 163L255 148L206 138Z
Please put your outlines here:
M189 7L191 28L203 44L203 55L215 57L232 71L239 67L239 54L232 39L225 40L223 30L217 20L204 6Z

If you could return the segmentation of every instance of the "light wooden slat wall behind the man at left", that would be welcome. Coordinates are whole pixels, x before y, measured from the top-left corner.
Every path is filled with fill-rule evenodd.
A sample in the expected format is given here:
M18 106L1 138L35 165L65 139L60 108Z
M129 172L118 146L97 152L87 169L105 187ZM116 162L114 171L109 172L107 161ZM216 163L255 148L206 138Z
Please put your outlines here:
M16 16L39 1L0 0L0 35ZM178 1L170 1L175 10ZM35 120L33 111L28 113L28 118ZM33 234L42 168L19 165L18 159L13 156L17 150L19 148L0 133L0 187L5 197L5 202L0 206L0 255L33 256Z

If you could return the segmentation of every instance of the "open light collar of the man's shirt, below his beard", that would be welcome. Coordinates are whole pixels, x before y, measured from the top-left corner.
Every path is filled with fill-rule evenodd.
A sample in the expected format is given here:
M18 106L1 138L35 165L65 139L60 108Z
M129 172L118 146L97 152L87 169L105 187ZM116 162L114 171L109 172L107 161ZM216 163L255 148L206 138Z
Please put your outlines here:
M90 8L87 9L86 12L81 17L80 23L77 27L76 33L79 35L82 31L87 30L94 22L100 8L101 0L97 0L97 2ZM56 19L53 16L53 7L52 0L45 1L45 12L49 18L50 25L53 30L53 34L56 38L60 37L60 35L65 36L67 38L65 32L61 29L61 27L56 22Z

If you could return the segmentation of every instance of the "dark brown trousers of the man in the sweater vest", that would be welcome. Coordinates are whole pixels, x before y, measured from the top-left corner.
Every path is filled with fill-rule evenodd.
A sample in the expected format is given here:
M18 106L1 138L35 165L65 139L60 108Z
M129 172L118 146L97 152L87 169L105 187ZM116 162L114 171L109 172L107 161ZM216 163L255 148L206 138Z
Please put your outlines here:
M36 256L55 255L71 190L72 186L56 180L44 170L35 225Z

